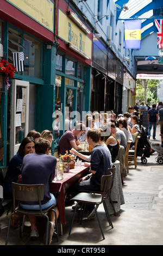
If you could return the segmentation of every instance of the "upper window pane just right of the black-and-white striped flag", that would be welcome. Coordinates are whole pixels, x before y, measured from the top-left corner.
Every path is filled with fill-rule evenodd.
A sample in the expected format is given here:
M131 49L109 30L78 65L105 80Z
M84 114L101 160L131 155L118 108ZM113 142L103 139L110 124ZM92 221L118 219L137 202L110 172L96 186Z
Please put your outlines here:
M24 75L41 78L42 43L24 35Z

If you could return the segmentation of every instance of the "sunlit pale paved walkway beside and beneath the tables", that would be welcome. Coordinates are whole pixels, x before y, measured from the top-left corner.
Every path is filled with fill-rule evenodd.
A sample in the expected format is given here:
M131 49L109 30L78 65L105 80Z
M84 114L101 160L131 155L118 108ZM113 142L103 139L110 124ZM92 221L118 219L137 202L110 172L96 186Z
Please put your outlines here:
M156 129L156 140L160 143L160 127ZM82 225L74 222L71 236L68 236L73 211L71 206L66 208L67 224L64 235L59 236L59 242L53 236L52 245L104 246L104 245L162 245L163 230L163 164L155 161L156 155L142 164L137 157L137 168L129 166L129 173L124 179L123 193L125 204L121 205L118 216L111 216L114 229L108 227L103 205L98 208L101 218L105 240L102 239L97 219L84 220ZM5 214L0 217L1 233L0 245L5 244L8 218ZM40 237L35 241L29 239L30 227L26 227L22 239L19 238L18 229L10 229L8 245L43 245L45 229L39 229ZM64 247L63 247L64 248Z

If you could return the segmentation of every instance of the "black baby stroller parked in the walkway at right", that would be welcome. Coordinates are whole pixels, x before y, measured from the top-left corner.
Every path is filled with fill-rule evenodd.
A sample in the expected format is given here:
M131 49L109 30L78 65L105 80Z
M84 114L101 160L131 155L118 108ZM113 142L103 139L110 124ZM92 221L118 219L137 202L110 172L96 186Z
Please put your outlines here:
M151 147L146 128L141 125L141 129L138 132L140 139L137 143L136 156L141 156L141 162L147 163L146 157L150 157L155 152L155 149Z

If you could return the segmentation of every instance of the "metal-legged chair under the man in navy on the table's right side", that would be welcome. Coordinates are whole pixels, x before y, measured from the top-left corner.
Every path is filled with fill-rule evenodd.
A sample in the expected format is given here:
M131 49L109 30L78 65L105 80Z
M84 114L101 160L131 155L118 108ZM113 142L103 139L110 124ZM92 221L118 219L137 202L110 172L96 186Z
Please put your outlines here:
M85 206L88 204L88 205L93 205L94 206L95 214L97 216L97 220L98 220L98 224L99 224L99 228L101 229L103 239L105 239L103 229L102 229L101 223L99 221L99 216L97 214L96 205L99 205L99 204L103 203L104 210L105 210L105 213L106 213L106 217L108 218L109 225L111 225L111 227L113 228L113 225L112 225L112 222L111 222L111 219L110 219L110 215L109 215L109 212L108 212L108 209L106 207L105 200L104 200L109 196L109 191L111 189L111 184L112 184L111 180L112 180L112 173L109 172L108 175L103 175L102 178L101 178L101 192L85 191L85 192L78 193L76 196L74 196L71 199L71 200L76 201L77 204L76 204L76 208L74 209L74 214L73 214L73 218L72 218L72 222L71 222L71 225L70 225L70 230L69 230L68 235L71 234L72 225L73 225L73 222L74 222L74 217L76 215L78 204L82 204L81 210L83 210L83 212L85 210ZM82 218L83 218L83 215L82 215Z

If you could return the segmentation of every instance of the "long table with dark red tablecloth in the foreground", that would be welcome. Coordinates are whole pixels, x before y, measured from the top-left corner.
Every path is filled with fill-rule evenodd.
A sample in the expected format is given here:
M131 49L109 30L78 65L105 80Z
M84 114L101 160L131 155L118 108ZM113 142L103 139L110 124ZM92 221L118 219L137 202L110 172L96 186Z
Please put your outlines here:
M75 167L70 169L68 173L64 173L64 179L57 180L54 179L49 182L49 189L52 193L58 193L57 203L60 215L60 221L62 225L66 224L65 215L65 198L68 188L70 188L74 183L78 182L80 178L85 176L89 171L88 167L84 166L84 163L80 167Z

